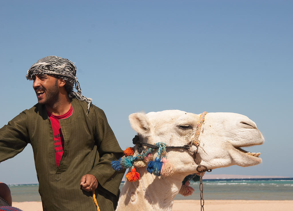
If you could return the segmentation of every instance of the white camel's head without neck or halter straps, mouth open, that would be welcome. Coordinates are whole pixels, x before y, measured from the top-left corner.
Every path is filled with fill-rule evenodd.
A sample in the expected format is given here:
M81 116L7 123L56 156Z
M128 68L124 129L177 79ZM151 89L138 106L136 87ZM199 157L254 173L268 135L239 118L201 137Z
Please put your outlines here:
M168 146L183 146L190 143L196 133L200 115L180 110L133 113L129 116L132 128L140 141ZM264 139L256 124L248 117L236 113L207 113L198 136L198 154L201 165L208 169L239 165L242 167L262 162L260 153L249 153L242 147L263 144ZM195 151L193 145L190 151ZM154 151L155 152L155 151ZM153 153L156 157L157 153ZM197 164L186 149L167 149L174 173L196 173Z

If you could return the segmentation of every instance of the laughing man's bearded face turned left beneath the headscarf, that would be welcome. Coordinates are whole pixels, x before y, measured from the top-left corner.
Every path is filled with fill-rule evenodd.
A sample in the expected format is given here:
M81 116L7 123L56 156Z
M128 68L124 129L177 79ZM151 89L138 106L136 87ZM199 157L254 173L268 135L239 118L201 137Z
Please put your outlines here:
M40 104L52 105L59 99L58 79L50 75L33 76L33 88Z

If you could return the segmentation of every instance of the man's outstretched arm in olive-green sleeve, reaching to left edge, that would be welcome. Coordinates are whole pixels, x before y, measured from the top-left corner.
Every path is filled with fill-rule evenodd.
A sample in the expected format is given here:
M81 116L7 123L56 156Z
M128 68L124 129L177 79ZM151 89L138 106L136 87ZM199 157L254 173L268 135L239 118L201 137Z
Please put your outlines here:
M0 129L0 162L13 158L28 144L28 129L25 122L26 113L23 111Z

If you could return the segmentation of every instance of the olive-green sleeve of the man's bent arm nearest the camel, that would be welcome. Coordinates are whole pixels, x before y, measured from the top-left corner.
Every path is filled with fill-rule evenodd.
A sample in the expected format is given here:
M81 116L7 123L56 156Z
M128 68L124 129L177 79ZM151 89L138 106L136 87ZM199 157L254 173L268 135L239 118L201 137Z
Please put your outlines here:
M94 106L91 111L93 112L92 117L95 127L94 138L98 147L100 159L87 174L92 174L104 189L117 195L125 170L121 172L114 171L111 167L111 161L118 160L124 155L124 153L108 124L103 110ZM88 189L91 187L92 186L88 186ZM94 189L94 187L92 189Z

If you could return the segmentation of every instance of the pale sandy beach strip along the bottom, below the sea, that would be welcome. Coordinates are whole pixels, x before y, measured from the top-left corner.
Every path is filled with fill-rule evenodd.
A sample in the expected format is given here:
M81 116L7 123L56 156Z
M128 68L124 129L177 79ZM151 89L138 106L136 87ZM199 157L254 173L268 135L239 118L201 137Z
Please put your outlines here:
M23 211L42 211L41 202L13 202L13 206ZM210 211L247 210L291 210L293 200L205 200L204 208ZM199 200L174 200L173 211L200 210Z

